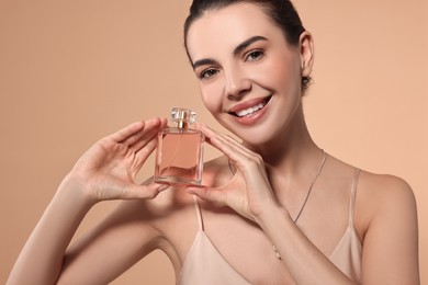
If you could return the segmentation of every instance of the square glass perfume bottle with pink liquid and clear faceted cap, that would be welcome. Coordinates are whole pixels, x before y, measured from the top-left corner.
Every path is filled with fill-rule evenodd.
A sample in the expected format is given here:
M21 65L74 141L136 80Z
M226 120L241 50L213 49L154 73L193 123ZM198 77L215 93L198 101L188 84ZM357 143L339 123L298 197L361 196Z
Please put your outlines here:
M172 109L174 126L166 127L158 134L155 182L201 185L205 136L198 129L189 128L195 118L196 113L192 110Z

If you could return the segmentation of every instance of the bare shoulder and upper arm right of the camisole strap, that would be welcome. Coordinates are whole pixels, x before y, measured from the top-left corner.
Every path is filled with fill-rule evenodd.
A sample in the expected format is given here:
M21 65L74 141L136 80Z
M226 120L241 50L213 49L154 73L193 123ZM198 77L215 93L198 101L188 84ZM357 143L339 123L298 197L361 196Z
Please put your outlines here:
M362 283L419 284L416 200L405 180L361 171L354 220L363 244Z

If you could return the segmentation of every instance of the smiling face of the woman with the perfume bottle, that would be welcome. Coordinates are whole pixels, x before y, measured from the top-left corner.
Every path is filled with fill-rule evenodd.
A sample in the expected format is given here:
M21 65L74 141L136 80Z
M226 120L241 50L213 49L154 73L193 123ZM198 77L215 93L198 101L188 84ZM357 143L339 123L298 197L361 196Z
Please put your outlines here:
M187 45L203 102L224 127L249 145L284 133L301 106L302 76L311 72L307 52L289 45L260 7L209 11L190 26Z

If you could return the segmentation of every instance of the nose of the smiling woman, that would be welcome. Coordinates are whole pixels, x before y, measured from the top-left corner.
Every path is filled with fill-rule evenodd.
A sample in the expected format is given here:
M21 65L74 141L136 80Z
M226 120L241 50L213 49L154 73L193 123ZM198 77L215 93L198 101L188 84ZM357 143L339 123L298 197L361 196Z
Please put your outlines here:
M225 94L229 100L240 100L251 90L251 80L239 68L229 68L225 73Z

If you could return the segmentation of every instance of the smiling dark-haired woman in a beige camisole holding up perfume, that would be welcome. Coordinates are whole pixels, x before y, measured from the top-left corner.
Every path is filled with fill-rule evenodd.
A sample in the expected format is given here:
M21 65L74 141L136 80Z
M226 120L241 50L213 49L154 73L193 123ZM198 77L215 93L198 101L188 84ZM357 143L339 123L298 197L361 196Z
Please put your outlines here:
M309 136L314 44L292 4L195 0L184 42L206 109L241 141L200 125L224 156L205 163L204 186L183 190L135 183L166 119L101 139L64 179L8 284L105 284L155 249L180 284L418 284L409 186ZM105 200L124 202L69 247Z

